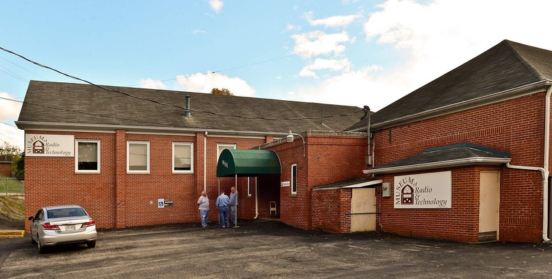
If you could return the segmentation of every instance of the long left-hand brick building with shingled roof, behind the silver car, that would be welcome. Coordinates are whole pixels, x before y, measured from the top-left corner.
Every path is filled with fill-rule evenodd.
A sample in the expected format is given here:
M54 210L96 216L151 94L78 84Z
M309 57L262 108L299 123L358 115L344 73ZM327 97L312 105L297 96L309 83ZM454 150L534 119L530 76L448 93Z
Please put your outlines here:
M363 114L354 106L31 81L16 122L26 134L26 215L81 204L99 228L199 222L205 189L215 221L218 189L236 185L238 217L268 217L269 201L282 207L278 178L272 188L263 177L217 178L221 151L290 130L343 131Z

